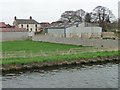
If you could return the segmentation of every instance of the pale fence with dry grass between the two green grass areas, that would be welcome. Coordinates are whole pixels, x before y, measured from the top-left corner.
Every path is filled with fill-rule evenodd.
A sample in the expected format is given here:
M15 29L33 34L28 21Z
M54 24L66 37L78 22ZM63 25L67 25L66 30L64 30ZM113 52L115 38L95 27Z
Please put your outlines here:
M66 55L66 54L79 54L86 52L97 52L97 51L109 51L107 48L71 48L69 50L54 50L54 51L42 51L32 52L32 51L6 51L2 53L1 58L30 58L30 57L40 57L40 56L55 56L55 55ZM113 50L112 50L113 51Z

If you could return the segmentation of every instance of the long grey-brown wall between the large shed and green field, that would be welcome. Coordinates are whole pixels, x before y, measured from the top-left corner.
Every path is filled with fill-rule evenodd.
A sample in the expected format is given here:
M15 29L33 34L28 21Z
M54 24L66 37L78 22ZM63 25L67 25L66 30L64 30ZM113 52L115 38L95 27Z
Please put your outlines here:
M50 35L38 35L32 38L33 41L43 41L52 43L63 43L72 45L95 46L104 48L118 48L118 40L112 39L87 39L87 38L60 38Z

